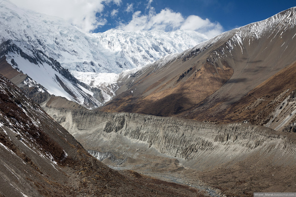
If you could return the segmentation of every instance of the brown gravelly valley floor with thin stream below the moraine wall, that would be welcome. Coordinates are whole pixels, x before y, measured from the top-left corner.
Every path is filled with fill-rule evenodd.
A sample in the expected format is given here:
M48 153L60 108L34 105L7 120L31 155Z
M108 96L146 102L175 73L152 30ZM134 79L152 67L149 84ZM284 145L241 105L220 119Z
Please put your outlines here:
M146 157L146 159L145 159ZM141 155L128 158L121 165L112 164L109 158L103 163L118 170L133 170L142 176L186 185L205 196L253 196L254 192L292 192L296 190L295 169L289 166L272 165L270 161L254 155L232 165L221 165L212 170L196 170L175 158Z

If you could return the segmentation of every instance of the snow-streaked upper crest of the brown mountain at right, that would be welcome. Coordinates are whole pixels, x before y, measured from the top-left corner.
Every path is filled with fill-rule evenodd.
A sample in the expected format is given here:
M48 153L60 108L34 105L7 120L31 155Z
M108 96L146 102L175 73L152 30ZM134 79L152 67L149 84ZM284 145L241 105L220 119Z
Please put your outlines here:
M271 44L276 44L277 38L282 39L285 33L291 34L287 37L289 41L294 39L296 32L294 32L296 26L296 7L284 10L274 16L263 21L254 22L243 27L239 27L228 32L224 32L212 39L197 44L192 49L186 50L177 56L177 59L188 60L191 59L203 51L207 50L213 55L212 59L219 59L226 57L226 51L240 51L240 53L252 53L250 46L252 43L266 45L266 48ZM282 43L282 46L287 46L288 41ZM210 47L212 46L212 47ZM281 46L281 47L282 47ZM215 49L215 47L217 49ZM213 51L209 51L213 50Z

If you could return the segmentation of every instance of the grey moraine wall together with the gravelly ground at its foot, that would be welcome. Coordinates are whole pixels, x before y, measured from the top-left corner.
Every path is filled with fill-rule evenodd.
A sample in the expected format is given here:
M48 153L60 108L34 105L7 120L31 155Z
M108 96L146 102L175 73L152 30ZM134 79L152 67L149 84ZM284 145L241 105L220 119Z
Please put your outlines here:
M254 191L292 192L296 188L294 176L290 177L295 171L294 133L245 123L212 124L54 106L45 110L89 152L102 156L98 152L111 152L114 157L126 159L122 165L127 168L144 172L161 168L187 176L190 172L193 179L200 178L236 196L252 196ZM172 160L163 164L164 158ZM188 167L197 171L192 173Z

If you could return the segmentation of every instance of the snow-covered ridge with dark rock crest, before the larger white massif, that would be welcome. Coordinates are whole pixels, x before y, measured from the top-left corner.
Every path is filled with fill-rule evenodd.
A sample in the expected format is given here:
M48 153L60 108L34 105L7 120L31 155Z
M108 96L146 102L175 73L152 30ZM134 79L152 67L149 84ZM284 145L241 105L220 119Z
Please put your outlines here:
M78 81L67 69L61 67L59 62L31 45L27 45L24 52L8 40L0 45L0 50L1 58L6 56L6 61L13 68L33 78L28 84L29 87L39 87L39 84L42 84L40 92L46 91L51 95L63 96L86 108L96 108L101 105L100 90Z

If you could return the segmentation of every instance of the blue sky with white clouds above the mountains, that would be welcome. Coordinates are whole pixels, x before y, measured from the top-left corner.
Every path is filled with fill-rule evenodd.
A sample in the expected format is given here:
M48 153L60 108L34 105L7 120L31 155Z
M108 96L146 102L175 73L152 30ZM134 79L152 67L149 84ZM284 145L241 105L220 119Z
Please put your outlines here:
M11 0L19 7L61 17L87 32L195 30L208 37L267 19L296 0Z

